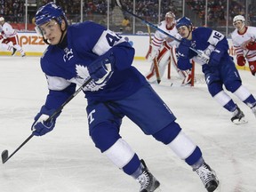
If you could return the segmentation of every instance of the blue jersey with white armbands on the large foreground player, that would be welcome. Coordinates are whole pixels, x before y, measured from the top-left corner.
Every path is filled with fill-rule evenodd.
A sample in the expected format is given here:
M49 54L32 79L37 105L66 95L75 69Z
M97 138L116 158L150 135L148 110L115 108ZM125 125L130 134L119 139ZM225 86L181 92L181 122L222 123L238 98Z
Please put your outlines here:
M134 49L114 32L91 21L68 26L67 44L49 45L41 58L50 90L45 102L46 108L59 108L68 97L89 79L87 66L108 52L112 52L114 71L108 82L84 87L88 100L118 100L138 91L147 84L144 76L132 67Z

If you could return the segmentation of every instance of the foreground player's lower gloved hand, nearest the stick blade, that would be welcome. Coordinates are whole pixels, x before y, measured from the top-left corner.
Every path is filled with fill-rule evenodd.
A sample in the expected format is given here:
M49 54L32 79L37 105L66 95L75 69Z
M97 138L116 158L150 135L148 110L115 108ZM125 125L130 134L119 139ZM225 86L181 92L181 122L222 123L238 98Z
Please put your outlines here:
M31 126L33 135L42 136L47 132L51 132L55 126L56 118L60 115L54 116L50 121L46 121L49 116L55 112L55 109L47 109L43 106L40 112L35 116L35 122Z

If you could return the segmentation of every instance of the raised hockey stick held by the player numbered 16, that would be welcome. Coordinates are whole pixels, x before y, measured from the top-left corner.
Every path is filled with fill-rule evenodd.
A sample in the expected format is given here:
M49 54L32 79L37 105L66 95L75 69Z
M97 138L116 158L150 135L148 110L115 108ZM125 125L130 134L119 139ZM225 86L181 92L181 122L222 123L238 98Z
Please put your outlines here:
M121 8L121 10L123 10L124 12L127 12L129 14L131 14L133 17L141 20L142 22L146 23L148 26L150 26L151 28L156 28L156 30L160 31L161 33L163 33L165 36L169 36L171 37L173 40L180 42L180 39L176 38L175 36L172 36L170 34L168 34L167 32L165 32L164 30L162 30L161 28L157 28L155 25L153 25L152 23L148 22L147 20L143 20L140 16L134 14L133 12L128 11L123 4L121 4L121 0L116 0L116 4ZM204 54L204 52L199 52L198 50L194 49L193 47L189 47L190 50L192 50L193 52L196 52L198 55L200 55L201 57L204 57L207 60L210 60L209 56L207 56L206 54Z

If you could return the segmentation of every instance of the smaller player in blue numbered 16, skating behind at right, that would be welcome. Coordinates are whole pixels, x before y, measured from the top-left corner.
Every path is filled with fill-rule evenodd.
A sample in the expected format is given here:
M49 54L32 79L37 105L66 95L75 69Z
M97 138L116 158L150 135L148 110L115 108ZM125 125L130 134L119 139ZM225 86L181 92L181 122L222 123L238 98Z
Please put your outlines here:
M178 50L178 67L181 70L191 68L190 59L202 65L208 91L223 108L233 113L231 121L234 124L244 124L247 120L241 109L223 90L223 84L229 92L234 93L251 108L256 116L256 100L242 84L235 63L228 54L227 38L211 28L193 28L187 17L180 18L176 27L182 36Z

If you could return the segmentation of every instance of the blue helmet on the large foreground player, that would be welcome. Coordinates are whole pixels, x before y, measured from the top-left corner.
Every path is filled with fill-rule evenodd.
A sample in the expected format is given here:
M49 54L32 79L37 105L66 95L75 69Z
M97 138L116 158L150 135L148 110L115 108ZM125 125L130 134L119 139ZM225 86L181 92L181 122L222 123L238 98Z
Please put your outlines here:
M56 20L58 24L61 24L62 20L67 23L67 18L65 12L62 11L60 6L54 4L53 2L45 4L36 12L36 26L43 25L44 23Z

